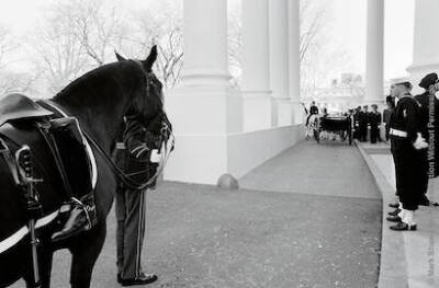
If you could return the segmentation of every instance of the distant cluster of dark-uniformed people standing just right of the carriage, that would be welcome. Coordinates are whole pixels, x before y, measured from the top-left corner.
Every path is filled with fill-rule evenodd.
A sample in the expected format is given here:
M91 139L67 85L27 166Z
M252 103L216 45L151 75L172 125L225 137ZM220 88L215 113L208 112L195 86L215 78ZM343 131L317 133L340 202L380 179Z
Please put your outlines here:
M382 141L380 135L382 116L376 104L372 104L371 107L371 112L369 112L369 105L364 105L362 108L358 106L353 113L351 111L354 124L353 138L365 142L368 140L368 129L370 128L370 141L371 143L376 143L376 141Z

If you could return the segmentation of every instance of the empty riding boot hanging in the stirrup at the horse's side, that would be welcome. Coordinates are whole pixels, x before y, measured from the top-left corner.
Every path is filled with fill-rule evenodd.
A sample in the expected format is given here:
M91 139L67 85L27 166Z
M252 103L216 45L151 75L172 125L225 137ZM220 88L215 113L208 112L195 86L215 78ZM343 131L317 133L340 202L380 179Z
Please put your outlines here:
M53 242L66 240L80 232L88 231L98 222L93 193L82 196L80 200L72 197L70 205L70 216L63 230L52 235Z

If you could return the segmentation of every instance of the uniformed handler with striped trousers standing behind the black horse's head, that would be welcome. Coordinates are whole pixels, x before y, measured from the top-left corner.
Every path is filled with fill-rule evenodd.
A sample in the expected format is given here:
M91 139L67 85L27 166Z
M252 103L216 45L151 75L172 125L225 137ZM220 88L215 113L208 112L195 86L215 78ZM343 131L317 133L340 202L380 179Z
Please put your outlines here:
M134 116L125 117L123 141L116 145L116 162L137 183L146 183L157 170L150 162L151 151L159 149L160 136ZM154 186L155 183L151 185ZM117 281L122 286L146 285L157 280L142 268L145 237L145 196L147 189L133 191L119 184L116 193Z

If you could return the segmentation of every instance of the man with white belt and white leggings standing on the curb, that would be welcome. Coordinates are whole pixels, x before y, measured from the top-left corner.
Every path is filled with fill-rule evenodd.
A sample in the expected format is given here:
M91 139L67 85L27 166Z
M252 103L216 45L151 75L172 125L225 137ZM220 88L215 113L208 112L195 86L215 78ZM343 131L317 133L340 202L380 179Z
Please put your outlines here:
M398 99L391 119L390 135L401 211L387 217L387 220L397 222L391 226L396 231L417 229L415 211L425 185L425 178L419 173L425 160L419 157L419 151L428 148L428 143L421 136L420 105L410 91L409 82L396 83L392 90L392 96Z

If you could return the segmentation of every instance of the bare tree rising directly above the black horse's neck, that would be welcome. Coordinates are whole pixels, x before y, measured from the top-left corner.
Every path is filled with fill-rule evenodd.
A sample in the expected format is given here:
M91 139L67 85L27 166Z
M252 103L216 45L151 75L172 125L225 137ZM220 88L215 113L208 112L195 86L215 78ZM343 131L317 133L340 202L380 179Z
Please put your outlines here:
M127 30L124 12L115 3L61 0L48 9L31 39L35 69L48 91L57 92L87 70L114 60L114 49L123 45Z

